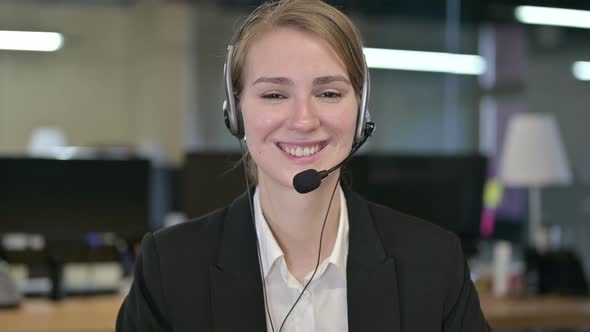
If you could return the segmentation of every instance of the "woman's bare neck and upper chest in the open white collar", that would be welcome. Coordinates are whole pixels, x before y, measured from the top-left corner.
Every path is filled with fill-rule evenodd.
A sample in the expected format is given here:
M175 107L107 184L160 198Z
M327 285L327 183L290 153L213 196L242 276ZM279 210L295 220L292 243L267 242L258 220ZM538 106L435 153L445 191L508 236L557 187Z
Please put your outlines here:
M260 177L259 197L262 212L283 250L289 271L300 279L317 262L320 233L339 171L322 181L316 190L300 194ZM338 189L336 189L338 191ZM332 253L340 219L340 194L334 193L322 237L320 261Z

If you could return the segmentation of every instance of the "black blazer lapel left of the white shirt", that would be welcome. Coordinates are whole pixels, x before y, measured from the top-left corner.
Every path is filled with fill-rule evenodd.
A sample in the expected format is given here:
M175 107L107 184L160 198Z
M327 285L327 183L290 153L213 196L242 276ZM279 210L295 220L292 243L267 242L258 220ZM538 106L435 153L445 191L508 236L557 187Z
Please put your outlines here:
M247 193L230 206L219 259L211 266L211 306L216 332L266 331L256 233Z

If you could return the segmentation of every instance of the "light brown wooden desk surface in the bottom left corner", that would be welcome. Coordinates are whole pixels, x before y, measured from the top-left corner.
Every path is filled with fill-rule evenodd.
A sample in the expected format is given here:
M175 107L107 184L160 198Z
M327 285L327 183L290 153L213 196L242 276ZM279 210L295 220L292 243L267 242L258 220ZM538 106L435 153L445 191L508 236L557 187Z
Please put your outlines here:
M122 295L26 299L17 309L0 310L2 332L114 332Z

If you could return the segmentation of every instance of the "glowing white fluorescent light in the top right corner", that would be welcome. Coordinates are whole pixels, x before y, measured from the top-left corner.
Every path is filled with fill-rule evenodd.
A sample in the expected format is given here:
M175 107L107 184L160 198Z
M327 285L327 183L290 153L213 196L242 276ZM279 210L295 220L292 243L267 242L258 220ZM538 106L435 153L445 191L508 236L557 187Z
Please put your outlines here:
M514 14L522 23L590 29L590 11L537 6L518 6Z

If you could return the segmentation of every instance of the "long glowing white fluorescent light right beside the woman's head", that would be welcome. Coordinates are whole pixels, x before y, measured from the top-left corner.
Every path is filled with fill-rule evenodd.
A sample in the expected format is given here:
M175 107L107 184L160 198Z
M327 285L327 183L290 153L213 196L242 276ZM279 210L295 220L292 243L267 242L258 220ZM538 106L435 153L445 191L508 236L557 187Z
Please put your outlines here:
M480 75L486 70L479 55L364 48L369 68Z

